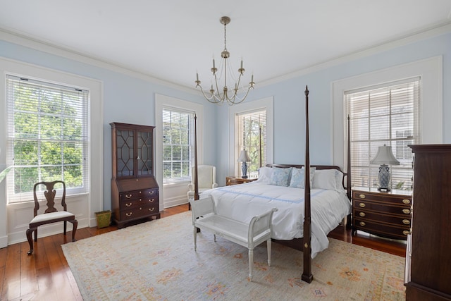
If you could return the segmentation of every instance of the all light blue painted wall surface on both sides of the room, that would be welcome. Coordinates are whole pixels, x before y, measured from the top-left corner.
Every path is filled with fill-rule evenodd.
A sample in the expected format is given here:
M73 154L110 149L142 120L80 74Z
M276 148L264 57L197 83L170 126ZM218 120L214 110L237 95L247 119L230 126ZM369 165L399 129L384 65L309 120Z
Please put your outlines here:
M307 45L308 47L308 45ZM299 54L302 55L302 54ZM451 143L451 33L382 51L297 78L259 87L247 102L274 100L274 163L304 163L304 90L309 86L310 155L312 164L333 164L333 111L331 84L335 80L373 72L412 61L443 56L443 142ZM99 68L61 56L18 46L0 39L0 56L96 78L104 82L104 209L111 208L112 121L154 125L155 93L204 104L203 153L205 164L218 166L218 183L228 176L228 106L206 103L198 94L158 85L142 78ZM257 75L256 75L257 76ZM255 78L258 81L258 78ZM427 102L427 95L424 96Z

